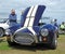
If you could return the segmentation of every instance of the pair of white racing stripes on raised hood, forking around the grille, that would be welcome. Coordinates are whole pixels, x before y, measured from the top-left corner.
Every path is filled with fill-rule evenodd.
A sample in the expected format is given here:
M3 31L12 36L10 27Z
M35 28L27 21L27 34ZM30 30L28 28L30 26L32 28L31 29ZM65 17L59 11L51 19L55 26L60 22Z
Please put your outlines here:
M32 9L34 9L34 11L32 11ZM32 24L34 24L34 21L35 21L35 16L36 16L36 13L37 13L37 9L38 9L38 5L36 5L35 8L34 8L34 6L30 8L30 10L29 10L29 12L28 12L28 14L27 14L27 16L26 16L27 18L26 18L26 21L25 21L24 27L22 27L21 29L16 30L15 32L17 32L17 31L26 28L27 25L28 25L27 28L28 28L34 35L36 35L35 30L32 29ZM32 12L32 13L31 13L31 12ZM29 17L29 16L30 16L30 17ZM28 22L29 22L29 24L28 24Z

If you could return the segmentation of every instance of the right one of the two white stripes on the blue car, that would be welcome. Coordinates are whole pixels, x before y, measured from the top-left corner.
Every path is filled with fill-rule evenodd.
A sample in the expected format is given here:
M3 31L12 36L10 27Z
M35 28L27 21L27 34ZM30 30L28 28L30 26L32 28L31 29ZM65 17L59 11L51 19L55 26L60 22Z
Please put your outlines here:
M35 21L35 16L36 16L36 13L37 13L37 9L38 9L38 5L35 6L34 11L32 11L32 14L30 17L30 21L29 21L29 25L28 25L28 29L34 33L36 35L35 30L32 29L32 25L34 25L34 21Z

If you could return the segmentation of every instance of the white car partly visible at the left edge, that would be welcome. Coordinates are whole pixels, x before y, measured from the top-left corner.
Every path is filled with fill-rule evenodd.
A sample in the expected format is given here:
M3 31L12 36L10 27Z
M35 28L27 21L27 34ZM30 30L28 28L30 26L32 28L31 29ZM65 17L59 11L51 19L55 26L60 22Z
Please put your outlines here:
M0 18L0 37L5 35L5 29L9 28L9 19L8 18Z

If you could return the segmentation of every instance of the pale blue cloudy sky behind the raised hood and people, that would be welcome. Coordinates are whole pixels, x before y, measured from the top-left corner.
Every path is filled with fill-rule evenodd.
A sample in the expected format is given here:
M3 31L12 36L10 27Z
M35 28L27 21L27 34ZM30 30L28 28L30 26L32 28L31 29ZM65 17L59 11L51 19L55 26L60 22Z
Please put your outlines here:
M58 23L65 21L65 0L0 0L0 17L8 18L11 9L15 9L20 18L23 10L38 4L47 6L42 16L56 18Z

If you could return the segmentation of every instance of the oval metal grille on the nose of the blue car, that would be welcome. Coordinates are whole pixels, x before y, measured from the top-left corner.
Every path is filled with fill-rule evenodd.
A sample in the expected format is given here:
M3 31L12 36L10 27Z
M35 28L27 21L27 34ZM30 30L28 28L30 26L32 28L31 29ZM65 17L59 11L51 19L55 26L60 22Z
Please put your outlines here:
M14 36L14 41L20 44L31 44L35 39L34 36L29 33L17 33Z

